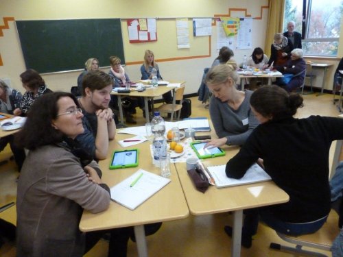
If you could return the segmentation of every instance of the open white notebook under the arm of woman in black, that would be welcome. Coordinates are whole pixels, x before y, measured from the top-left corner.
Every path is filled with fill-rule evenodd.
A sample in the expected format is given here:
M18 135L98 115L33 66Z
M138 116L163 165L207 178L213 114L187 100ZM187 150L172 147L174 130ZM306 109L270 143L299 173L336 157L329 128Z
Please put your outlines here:
M272 180L270 175L265 173L265 171L256 163L252 164L248 171L246 171L246 174L244 174L243 178L239 180L228 178L225 173L225 167L226 165L207 167L211 177L215 180L215 186L217 186L217 188Z

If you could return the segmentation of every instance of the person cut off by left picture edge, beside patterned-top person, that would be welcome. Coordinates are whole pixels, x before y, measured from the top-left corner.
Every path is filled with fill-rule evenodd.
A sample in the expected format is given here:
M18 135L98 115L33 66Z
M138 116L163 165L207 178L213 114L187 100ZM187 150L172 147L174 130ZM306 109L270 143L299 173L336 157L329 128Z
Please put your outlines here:
M8 87L8 85L0 79L0 112L13 114L13 110L19 108L22 98L23 96L18 90ZM25 151L16 147L13 140L14 135L0 138L0 152L10 143L16 166L20 172L25 160Z

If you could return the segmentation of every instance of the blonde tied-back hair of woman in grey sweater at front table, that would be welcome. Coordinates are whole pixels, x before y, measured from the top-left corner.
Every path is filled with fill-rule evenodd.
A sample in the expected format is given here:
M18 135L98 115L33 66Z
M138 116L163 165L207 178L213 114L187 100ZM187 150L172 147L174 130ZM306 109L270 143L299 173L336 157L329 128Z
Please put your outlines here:
M216 85L225 83L230 77L236 85L239 81L239 76L236 72L237 64L220 64L209 70L205 77L207 85Z

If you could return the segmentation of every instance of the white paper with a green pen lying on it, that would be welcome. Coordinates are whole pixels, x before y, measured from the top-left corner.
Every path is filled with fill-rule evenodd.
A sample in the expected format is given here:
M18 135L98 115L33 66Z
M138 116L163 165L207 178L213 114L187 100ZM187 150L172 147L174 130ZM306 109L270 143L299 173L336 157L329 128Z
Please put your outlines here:
M111 187L110 197L118 204L134 210L169 182L168 178L139 169L130 177Z

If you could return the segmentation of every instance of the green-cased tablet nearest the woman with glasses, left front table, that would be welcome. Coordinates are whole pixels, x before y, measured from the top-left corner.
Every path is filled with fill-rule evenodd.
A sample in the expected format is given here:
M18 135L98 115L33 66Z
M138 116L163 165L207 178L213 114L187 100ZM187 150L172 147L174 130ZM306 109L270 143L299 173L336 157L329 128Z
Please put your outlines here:
M110 161L110 169L123 169L138 166L138 149L114 151Z

